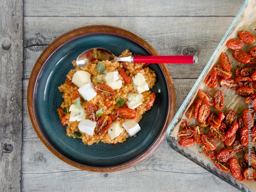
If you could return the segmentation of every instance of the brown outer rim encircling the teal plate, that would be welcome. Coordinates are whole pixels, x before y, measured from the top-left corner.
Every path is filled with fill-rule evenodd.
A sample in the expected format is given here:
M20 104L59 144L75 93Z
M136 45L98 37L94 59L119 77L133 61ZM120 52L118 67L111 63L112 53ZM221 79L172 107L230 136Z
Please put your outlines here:
M86 35L86 34L89 35L89 34L100 34L100 33L101 34L102 33L114 34L114 35L118 35L118 36L122 36L124 38L130 39L130 40L136 42L137 44L139 44L140 46L142 46L145 50L147 50L152 55L158 55L158 53L155 51L155 49L153 49L146 41L144 41L143 39L141 39L140 37L138 37L137 35L129 32L129 31L126 31L126 30L123 30L120 28L116 28L116 27L88 26L88 27L78 28L78 29L72 30L68 33L65 33L65 34L61 35L60 37L58 37L57 39L55 39L45 49L45 51L42 52L42 54L39 56L39 58L37 59L37 61L35 63L35 66L31 72L29 84L28 84L28 93L27 93L28 111L29 111L29 116L30 116L31 122L34 126L35 132L37 133L38 137L46 145L46 147L59 159L61 159L62 161L66 162L72 166L75 166L77 168L89 170L92 172L114 172L117 170L129 168L129 167L134 166L134 165L138 164L139 162L143 161L144 159L149 157L154 151L156 151L156 149L160 146L160 144L163 142L163 140L165 138L165 133L166 133L167 127L174 117L175 91L174 91L174 84L173 84L172 77L170 77L169 71L164 63L159 65L159 67L161 68L161 70L164 74L165 81L167 83L168 98L169 98L168 114L165 119L164 128L161 130L160 135L157 137L157 139L154 141L154 143L150 147L148 147L145 152L143 152L140 156L136 157L135 159L132 159L129 162L125 162L124 164L112 166L112 167L92 167L92 166L87 166L84 164L77 163L77 162L63 156L61 153L59 153L57 150L55 150L55 148L47 141L47 139L41 133L41 131L37 125L34 111L33 111L33 94L34 94L34 87L35 87L37 75L39 74L41 67L44 65L45 61L52 54L52 52L55 49L57 49L59 46L61 46L62 44L65 44L67 41L71 40L72 38L76 38L78 36Z

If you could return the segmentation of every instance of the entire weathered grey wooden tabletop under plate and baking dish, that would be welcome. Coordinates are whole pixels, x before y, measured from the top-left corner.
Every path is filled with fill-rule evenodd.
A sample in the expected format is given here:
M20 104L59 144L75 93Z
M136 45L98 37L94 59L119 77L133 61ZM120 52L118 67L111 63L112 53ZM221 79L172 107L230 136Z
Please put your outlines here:
M146 40L160 54L198 55L168 65L176 112L217 48L243 0L0 0L0 191L238 191L166 142L136 166L92 173L55 157L37 137L27 109L36 59L58 36L109 25Z

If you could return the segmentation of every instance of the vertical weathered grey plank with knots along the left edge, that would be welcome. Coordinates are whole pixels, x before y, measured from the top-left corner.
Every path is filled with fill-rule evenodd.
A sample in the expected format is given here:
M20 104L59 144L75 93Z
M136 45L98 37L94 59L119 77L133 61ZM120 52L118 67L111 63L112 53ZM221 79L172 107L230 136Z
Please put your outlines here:
M23 2L0 5L0 190L20 191Z

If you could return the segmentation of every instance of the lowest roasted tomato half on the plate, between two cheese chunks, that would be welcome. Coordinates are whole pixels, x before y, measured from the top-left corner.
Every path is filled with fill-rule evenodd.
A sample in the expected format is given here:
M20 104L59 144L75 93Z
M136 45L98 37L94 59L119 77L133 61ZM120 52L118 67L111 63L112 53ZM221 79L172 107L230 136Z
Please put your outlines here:
M96 123L94 134L96 136L104 135L109 131L112 119L110 116L102 116Z

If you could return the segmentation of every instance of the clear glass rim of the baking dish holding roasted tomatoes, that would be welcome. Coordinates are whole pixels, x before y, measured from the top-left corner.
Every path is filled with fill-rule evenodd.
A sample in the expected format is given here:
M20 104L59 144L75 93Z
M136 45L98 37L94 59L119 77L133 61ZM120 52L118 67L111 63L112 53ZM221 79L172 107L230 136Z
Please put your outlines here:
M223 46L227 38L232 34L234 29L239 25L241 20L243 19L245 15L245 9L247 8L250 1L255 0L246 0L239 10L237 16L234 18L232 24L228 28L227 32L225 33L224 37L220 41L220 44L218 45L217 49L215 50L214 54L212 54L211 58L209 59L207 65L205 66L204 70L200 74L199 78L197 79L196 83L194 84L191 91L188 93L186 99L183 101L182 105L180 106L180 109L176 113L175 117L173 118L172 122L169 124L166 132L166 139L170 147L172 147L175 151L183 155L184 157L188 158L189 160L193 161L194 163L198 164L199 166L203 167L204 169L208 170L208 172L216 175L220 179L226 181L230 185L238 188L241 191L254 191L253 189L246 186L244 183L239 182L238 180L234 179L233 176L226 174L222 172L220 169L218 169L214 164L210 163L206 159L202 158L201 156L197 155L193 151L191 151L189 148L185 148L179 145L178 141L175 139L175 137L172 137L171 134L173 133L175 127L180 123L184 113L188 109L188 106L190 106L191 102L193 102L195 95L197 94L202 82L204 81L206 75L211 70L212 65L214 62L216 63L216 57L219 57L220 54L218 54L220 48ZM252 181L253 182L253 181Z

